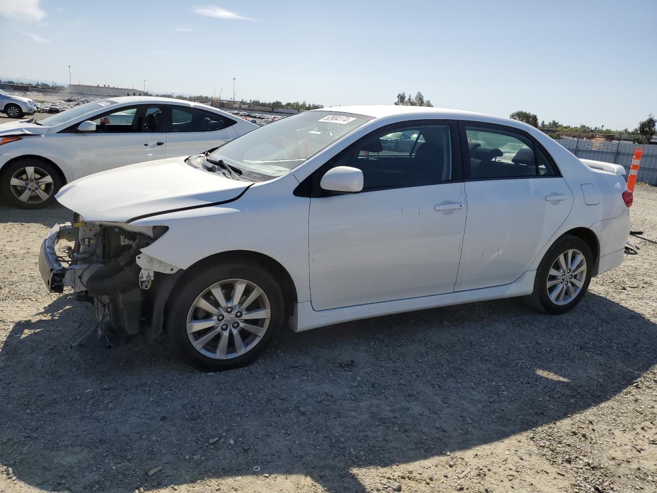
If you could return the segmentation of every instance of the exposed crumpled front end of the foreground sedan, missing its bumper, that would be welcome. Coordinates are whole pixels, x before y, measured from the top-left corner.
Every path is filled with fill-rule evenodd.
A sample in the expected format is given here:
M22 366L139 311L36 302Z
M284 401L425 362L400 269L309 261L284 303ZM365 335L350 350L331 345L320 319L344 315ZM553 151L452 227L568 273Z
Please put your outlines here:
M78 220L57 224L49 231L39 253L46 287L53 293L72 288L79 300L95 304L100 322L78 343L111 347L137 335L148 340L158 336L164 305L183 270L141 249L166 229Z

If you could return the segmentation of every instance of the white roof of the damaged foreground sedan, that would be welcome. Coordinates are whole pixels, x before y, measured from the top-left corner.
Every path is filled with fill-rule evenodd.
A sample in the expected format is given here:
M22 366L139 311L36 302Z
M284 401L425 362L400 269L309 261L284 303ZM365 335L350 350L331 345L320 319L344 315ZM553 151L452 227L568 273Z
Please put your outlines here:
M440 118L444 120L474 120L477 122L489 122L499 125L514 126L527 130L533 128L528 124L485 113L455 110L451 108L433 108L431 106L403 106L403 105L354 105L354 106L332 106L330 108L319 108L311 111L334 111L340 113L361 114L373 118L395 118L403 116L405 119Z

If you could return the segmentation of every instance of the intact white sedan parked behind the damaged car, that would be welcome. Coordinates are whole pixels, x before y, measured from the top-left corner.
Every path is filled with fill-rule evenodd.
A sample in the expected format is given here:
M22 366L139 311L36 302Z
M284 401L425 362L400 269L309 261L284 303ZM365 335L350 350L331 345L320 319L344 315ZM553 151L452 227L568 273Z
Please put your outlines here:
M255 128L212 106L160 97L101 99L1 124L0 193L16 207L46 207L74 179L200 153Z

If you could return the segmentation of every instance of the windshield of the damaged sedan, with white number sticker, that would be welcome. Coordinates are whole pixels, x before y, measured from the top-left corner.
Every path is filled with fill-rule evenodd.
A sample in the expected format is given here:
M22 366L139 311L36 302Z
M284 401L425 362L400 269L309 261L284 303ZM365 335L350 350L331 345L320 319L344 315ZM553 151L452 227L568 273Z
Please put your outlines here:
M263 175L281 176L369 120L371 116L330 111L298 113L222 145L210 158Z

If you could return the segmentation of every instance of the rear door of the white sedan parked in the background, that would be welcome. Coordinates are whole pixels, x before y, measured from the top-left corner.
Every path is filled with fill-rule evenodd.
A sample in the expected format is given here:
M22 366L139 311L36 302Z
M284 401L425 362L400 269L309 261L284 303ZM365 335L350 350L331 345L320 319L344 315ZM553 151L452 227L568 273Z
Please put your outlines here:
M223 141L235 139L235 120L218 113L190 108L169 106L171 126L167 136L167 157L198 154Z

